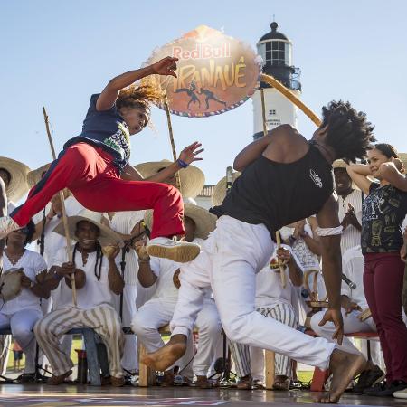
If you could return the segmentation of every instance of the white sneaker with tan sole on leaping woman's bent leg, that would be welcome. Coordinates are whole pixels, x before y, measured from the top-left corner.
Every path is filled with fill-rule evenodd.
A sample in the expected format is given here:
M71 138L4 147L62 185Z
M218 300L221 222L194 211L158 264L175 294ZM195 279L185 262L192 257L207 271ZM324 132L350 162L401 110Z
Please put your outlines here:
M187 263L194 260L200 251L199 244L173 241L165 237L154 238L147 243L147 253L150 256L173 260L177 263Z

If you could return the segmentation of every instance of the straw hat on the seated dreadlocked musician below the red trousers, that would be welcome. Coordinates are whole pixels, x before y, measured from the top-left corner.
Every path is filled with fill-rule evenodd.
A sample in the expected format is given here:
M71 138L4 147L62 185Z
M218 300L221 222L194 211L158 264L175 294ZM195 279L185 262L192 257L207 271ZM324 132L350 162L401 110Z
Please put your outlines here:
M85 209L81 211L76 216L68 216L68 227L70 230L71 239L75 239L76 241L78 238L75 236L76 225L80 221L87 221L93 223L95 226L98 226L100 233L98 237L98 241L102 246L108 246L109 244L119 244L121 243L121 238L118 233L113 232L108 226L105 226L101 223L102 213L93 212L89 209ZM63 222L59 222L52 232L57 232L62 236L65 236L65 230L63 228Z

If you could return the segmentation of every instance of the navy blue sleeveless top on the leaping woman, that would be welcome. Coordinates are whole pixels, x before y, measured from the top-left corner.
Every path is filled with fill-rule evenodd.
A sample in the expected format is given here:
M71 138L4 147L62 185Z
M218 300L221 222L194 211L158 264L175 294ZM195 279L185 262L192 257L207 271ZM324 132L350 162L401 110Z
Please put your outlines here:
M113 156L113 164L120 172L130 158L130 132L116 105L109 110L98 111L96 102L99 94L92 95L90 107L83 120L79 136L68 140L63 148L84 142L101 147Z

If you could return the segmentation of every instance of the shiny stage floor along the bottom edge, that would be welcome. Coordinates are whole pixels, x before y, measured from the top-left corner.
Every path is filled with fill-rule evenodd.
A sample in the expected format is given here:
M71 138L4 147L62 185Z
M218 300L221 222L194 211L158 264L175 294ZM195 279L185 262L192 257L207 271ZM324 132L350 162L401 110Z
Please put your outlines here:
M61 385L57 387L30 384L1 384L0 407L68 407L68 406L173 406L224 405L225 407L265 407L317 405L308 392L237 391L234 389L197 390L190 387L137 388L126 386L90 387ZM318 404L320 405L320 404ZM377 398L345 393L338 405L351 406L405 406L407 401L393 398Z

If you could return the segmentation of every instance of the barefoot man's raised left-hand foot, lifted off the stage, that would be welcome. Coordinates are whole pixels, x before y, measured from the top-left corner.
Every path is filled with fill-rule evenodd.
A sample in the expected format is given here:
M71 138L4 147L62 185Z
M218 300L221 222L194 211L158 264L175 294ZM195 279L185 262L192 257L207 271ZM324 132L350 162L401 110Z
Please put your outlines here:
M144 355L141 358L142 364L147 364L158 372L164 372L168 367L185 354L186 351L186 336L175 335L171 336L169 342L158 349L156 352Z

